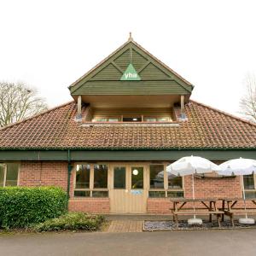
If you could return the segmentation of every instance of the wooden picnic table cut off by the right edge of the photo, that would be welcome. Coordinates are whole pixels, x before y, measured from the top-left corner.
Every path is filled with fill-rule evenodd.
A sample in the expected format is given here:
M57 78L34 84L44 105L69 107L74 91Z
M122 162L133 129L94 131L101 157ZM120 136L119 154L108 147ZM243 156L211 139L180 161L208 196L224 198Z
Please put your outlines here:
M246 198L241 197L234 198L219 198L222 201L222 207L219 210L224 211L224 214L230 217L230 221L234 226L234 215L235 214L256 214L256 207L236 207L238 202L250 201L256 206L256 198ZM224 215L222 216L224 220Z

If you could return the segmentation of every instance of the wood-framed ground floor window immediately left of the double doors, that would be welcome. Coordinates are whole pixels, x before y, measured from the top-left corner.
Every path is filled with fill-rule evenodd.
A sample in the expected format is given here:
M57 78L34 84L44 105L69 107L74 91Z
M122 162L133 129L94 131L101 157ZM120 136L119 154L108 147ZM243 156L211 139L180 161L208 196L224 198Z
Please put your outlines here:
M108 197L108 166L77 165L74 196Z

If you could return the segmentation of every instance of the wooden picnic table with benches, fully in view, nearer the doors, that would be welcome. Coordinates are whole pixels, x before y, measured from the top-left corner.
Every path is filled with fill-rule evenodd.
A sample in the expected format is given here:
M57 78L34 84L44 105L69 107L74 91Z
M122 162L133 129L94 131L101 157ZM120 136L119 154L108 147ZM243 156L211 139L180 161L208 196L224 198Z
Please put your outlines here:
M212 198L202 198L202 199L185 199L185 198L172 198L171 199L173 208L172 214L173 214L173 220L176 222L176 225L178 226L178 219L177 217L179 215L209 215L209 221L212 222L212 215L216 215L218 226L220 227L220 220L222 216L224 215L224 211L218 210L216 203L217 199ZM184 206L188 203L201 203L202 207L186 207Z

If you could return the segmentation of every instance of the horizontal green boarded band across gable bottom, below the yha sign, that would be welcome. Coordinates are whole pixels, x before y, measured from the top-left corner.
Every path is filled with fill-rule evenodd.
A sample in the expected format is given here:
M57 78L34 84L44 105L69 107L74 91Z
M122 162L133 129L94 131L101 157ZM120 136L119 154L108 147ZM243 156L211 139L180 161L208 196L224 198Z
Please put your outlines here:
M184 95L187 92L174 80L89 81L73 95Z

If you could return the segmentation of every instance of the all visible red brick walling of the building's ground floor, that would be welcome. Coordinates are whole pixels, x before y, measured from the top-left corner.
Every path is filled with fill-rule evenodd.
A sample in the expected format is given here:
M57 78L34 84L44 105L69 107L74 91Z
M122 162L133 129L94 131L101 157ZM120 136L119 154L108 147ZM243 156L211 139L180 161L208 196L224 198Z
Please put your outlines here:
M83 212L109 212L108 198L73 199L73 181L75 170L70 178L69 210ZM64 161L24 161L20 164L20 186L55 185L67 190L67 162ZM184 195L192 198L191 176L184 177ZM240 177L196 178L196 198L241 197ZM172 207L168 198L148 198L148 213L170 213Z

